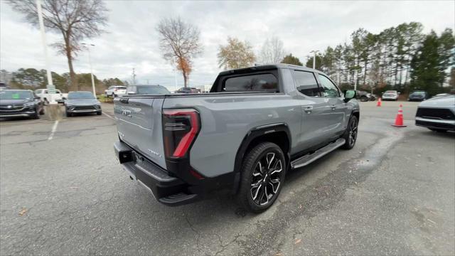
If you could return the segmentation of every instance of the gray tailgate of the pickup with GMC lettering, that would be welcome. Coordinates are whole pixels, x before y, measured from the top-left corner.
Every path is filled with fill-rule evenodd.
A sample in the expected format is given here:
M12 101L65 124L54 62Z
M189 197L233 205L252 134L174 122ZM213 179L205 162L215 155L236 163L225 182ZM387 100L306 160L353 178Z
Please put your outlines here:
M122 142L166 169L161 107L164 97L120 97L114 100L117 131Z

